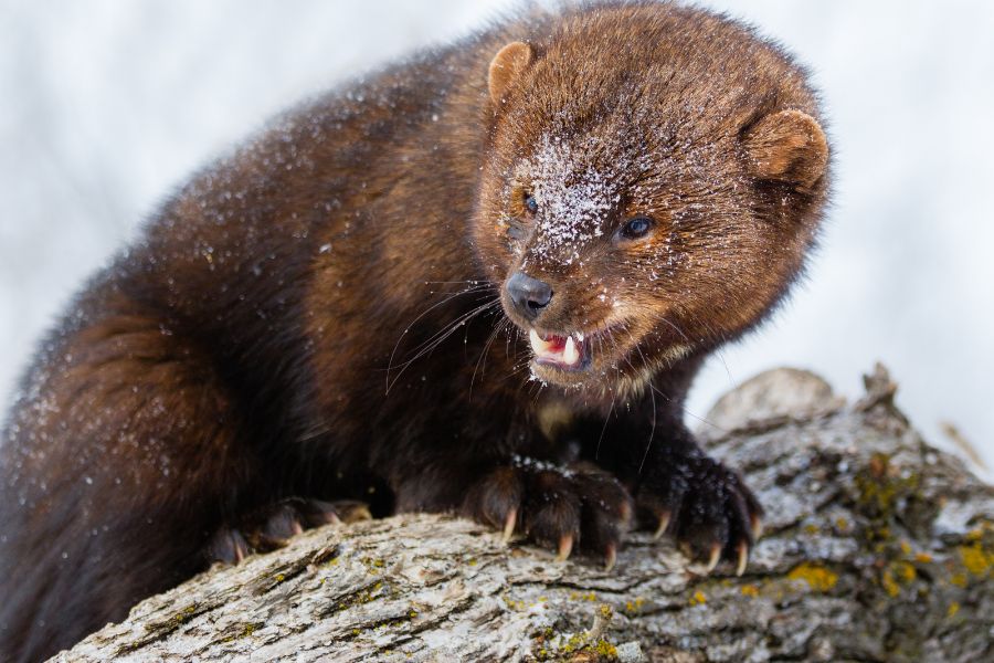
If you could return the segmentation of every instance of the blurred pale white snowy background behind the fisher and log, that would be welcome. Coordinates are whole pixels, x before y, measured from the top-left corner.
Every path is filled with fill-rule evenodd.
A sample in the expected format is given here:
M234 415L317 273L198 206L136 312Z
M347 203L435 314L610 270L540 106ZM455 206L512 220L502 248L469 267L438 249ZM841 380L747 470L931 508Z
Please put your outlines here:
M709 1L826 99L837 196L808 284L711 361L691 414L757 371L853 397L875 360L931 441L994 465L994 3ZM0 399L82 280L170 188L302 96L451 39L503 0L0 0Z

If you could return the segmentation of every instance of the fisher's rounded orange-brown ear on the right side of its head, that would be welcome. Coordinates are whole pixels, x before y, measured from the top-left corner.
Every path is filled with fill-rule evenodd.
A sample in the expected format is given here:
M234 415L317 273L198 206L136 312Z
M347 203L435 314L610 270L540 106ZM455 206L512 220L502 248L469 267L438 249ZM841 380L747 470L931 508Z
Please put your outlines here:
M750 171L764 180L811 190L828 166L825 131L811 115L801 110L772 113L742 137L750 157Z

